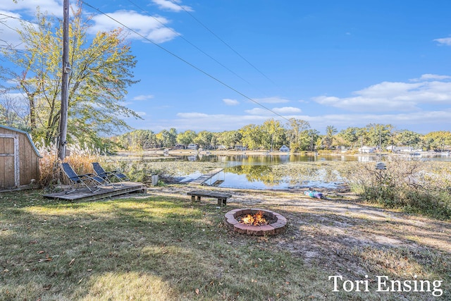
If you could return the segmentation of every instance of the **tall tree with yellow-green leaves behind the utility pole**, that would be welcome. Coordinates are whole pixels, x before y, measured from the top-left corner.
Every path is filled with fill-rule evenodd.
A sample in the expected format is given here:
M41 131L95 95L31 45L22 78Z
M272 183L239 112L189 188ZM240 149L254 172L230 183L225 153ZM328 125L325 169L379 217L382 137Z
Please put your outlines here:
M58 136L61 109L61 44L62 20L36 14L37 24L23 22L18 30L24 49L2 49L4 57L14 62L15 69L0 66L0 78L6 90L25 94L29 106L32 134L50 143ZM54 26L54 24L58 26ZM125 44L121 30L98 32L88 42L89 19L82 14L80 1L70 20L68 138L92 140L101 134L130 127L123 117L137 113L122 101L135 80L132 68L135 56Z

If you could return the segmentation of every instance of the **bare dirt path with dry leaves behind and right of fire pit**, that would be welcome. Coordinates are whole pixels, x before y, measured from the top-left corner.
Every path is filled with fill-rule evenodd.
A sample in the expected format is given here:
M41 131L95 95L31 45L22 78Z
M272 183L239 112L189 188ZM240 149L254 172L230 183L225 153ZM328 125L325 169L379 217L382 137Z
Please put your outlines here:
M150 188L148 193L189 199L189 190L193 188L177 186ZM226 191L233 195L228 200L230 209L260 207L288 219L287 231L271 237L269 247L289 251L304 258L306 264L349 278L380 273L400 277L427 275L432 266L445 265L445 269L451 261L449 222L361 204L345 190L325 192L328 199L306 197L303 190Z

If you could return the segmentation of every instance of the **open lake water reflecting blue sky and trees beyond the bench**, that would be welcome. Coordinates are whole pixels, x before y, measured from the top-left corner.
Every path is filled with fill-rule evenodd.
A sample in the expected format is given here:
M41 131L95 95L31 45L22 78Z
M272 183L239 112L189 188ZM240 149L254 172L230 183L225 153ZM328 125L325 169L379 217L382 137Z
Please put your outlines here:
M451 161L449 156L429 156L424 160ZM224 171L218 173L207 183L216 183L222 188L242 189L273 189L284 190L290 188L338 188L344 184L339 173L322 168L321 164L299 164L300 162L377 162L377 155L191 155L180 156L181 161L219 162ZM302 169L306 168L307 169ZM202 176L200 171L190 175L183 175L183 181L194 180Z

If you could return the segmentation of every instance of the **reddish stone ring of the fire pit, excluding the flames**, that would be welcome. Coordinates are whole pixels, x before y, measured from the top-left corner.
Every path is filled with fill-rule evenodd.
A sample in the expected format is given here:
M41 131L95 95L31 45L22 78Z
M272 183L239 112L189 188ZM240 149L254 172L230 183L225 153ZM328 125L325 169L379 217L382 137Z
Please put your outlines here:
M240 217L247 214L257 214L261 212L264 218L268 221L266 225L254 226L240 223ZM274 235L285 231L287 225L287 219L285 216L273 211L258 208L246 208L246 209L233 209L228 211L224 216L224 223L229 228L233 228L233 231L237 233L243 233L247 235Z

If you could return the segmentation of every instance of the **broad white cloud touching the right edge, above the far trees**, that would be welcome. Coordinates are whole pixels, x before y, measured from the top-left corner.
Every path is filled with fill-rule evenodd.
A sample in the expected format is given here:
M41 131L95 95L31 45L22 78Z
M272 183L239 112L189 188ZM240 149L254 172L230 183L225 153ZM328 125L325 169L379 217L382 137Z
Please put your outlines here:
M354 92L354 97L314 97L314 101L324 106L333 106L349 111L389 112L418 111L421 104L449 104L451 102L451 82L426 81L447 75L424 75L423 81L381 82Z

